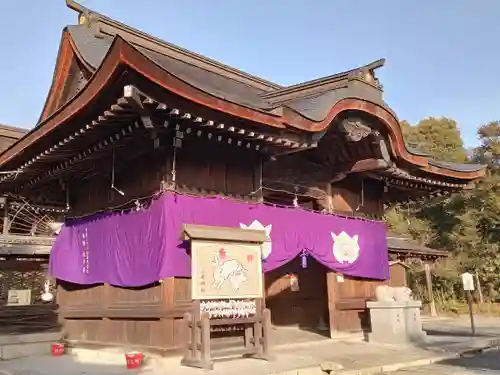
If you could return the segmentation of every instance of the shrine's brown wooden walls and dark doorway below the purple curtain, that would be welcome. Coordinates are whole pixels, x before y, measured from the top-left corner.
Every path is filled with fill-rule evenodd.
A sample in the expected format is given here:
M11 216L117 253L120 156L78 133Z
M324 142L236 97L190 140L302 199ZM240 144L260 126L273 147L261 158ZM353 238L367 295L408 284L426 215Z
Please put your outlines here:
M309 258L265 275L266 307L276 326L316 331L320 317L330 332L369 330L366 301L383 284L400 286L401 265L391 267L391 280L365 280L337 274ZM290 288L296 275L299 291ZM399 275L399 276L398 276ZM192 306L191 280L168 278L141 288L75 285L59 282L59 314L68 340L97 346L131 346L174 353L182 348L182 316Z

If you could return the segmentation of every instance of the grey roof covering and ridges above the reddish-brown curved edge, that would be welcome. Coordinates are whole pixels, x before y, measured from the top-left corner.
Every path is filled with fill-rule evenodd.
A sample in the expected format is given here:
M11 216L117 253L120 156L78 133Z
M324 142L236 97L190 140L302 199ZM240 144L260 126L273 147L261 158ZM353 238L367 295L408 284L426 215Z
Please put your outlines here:
M359 98L368 99L396 118L395 113L384 102L381 85L374 75L374 71L384 65L385 59L346 72L282 87L155 38L72 0L66 2L80 14L80 24L68 26L67 30L78 55L93 71L102 64L113 40L119 36L155 64L186 83L220 99L257 111L277 114L282 113L286 107L304 119L324 122L337 103L347 98ZM359 84L359 81L364 84ZM404 143L403 146L410 155L430 159L418 149ZM454 172L480 172L485 168L479 164L434 160L428 162L433 167Z

